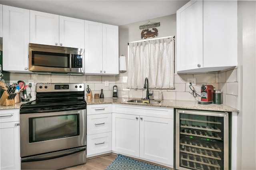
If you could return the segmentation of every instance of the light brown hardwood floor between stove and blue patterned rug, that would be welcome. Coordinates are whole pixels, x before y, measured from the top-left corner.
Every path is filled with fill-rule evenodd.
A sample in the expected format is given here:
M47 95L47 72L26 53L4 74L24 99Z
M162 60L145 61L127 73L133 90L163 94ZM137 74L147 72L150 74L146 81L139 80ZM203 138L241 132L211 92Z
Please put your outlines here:
M116 154L88 158L86 164L72 166L64 170L104 170L115 158Z

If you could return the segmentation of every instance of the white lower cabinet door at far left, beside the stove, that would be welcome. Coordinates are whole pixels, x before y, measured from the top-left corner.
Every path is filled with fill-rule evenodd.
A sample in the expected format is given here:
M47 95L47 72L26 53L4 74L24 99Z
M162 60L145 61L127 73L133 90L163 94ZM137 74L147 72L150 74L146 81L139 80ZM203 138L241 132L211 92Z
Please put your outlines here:
M1 170L20 169L20 122L0 123Z

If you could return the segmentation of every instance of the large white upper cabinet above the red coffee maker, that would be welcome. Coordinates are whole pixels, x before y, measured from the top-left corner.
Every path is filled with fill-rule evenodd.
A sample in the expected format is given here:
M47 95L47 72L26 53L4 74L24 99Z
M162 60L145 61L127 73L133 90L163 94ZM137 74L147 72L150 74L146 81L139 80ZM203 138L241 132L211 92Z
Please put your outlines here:
M237 65L237 1L190 1L177 10L177 73Z

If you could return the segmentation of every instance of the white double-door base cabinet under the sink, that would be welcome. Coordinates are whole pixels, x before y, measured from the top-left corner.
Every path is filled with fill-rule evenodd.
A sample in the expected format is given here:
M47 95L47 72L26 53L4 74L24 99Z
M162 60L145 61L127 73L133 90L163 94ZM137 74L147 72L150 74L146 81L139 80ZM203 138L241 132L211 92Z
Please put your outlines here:
M173 108L113 104L112 152L173 168Z

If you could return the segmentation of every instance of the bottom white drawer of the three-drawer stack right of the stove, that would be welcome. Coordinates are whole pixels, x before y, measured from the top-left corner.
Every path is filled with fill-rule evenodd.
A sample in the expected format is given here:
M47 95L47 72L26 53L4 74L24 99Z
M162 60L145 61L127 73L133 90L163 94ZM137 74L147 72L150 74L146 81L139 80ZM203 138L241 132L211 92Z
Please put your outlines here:
M87 135L87 155L111 152L112 132Z

